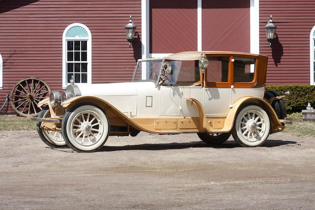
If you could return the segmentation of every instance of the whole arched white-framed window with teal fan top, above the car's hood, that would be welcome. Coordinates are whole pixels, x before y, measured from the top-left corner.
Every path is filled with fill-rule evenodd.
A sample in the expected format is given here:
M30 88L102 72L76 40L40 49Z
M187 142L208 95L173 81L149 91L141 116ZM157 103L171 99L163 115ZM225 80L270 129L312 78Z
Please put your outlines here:
M74 83L92 83L92 35L80 23L69 25L63 31L63 88Z

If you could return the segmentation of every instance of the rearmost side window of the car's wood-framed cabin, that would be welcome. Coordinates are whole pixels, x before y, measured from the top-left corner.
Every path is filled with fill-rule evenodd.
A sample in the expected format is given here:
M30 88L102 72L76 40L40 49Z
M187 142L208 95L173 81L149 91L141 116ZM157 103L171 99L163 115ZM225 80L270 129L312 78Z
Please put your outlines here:
M238 83L253 81L255 60L256 59L253 58L234 57L234 82Z

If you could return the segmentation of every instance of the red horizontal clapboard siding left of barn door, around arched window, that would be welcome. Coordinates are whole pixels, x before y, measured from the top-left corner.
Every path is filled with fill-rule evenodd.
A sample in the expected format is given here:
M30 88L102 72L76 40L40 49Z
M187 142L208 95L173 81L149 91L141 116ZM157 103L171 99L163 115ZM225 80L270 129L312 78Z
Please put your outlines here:
M138 32L131 48L124 28L129 15ZM63 91L62 36L72 23L82 23L92 33L92 83L130 81L141 58L141 0L0 0L0 106L26 77ZM1 111L12 112L9 103Z

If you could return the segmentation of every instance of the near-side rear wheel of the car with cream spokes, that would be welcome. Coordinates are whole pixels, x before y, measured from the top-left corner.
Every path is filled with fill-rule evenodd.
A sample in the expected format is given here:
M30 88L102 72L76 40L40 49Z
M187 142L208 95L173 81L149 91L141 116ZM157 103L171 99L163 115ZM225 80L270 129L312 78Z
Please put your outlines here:
M270 120L260 106L249 105L238 112L232 136L244 147L257 147L267 140L270 132Z

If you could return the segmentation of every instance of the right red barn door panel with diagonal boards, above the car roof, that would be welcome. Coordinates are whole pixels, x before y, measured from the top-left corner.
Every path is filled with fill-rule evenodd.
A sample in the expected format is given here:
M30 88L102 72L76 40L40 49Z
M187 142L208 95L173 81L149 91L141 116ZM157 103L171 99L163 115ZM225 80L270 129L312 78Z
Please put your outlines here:
M250 0L202 1L202 49L251 52Z

